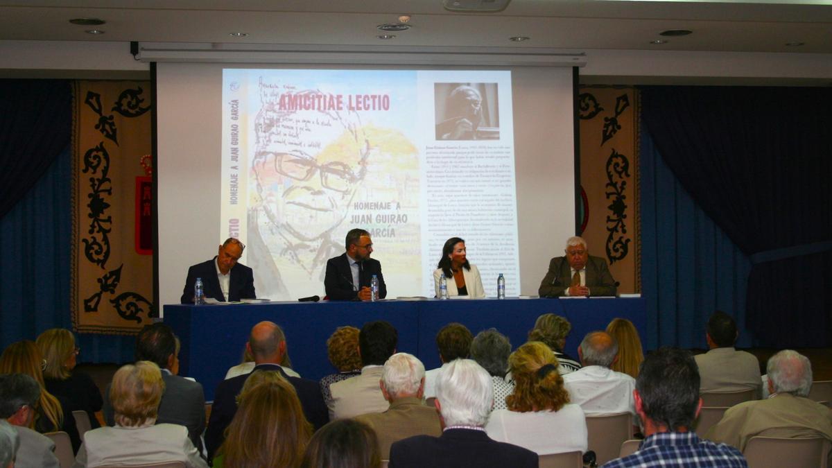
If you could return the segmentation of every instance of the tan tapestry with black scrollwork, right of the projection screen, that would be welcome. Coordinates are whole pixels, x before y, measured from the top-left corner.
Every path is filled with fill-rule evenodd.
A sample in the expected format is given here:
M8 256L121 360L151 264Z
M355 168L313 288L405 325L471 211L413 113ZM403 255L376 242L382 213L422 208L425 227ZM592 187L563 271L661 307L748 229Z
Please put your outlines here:
M638 94L631 87L582 87L582 236L607 259L619 293L641 291L638 207Z

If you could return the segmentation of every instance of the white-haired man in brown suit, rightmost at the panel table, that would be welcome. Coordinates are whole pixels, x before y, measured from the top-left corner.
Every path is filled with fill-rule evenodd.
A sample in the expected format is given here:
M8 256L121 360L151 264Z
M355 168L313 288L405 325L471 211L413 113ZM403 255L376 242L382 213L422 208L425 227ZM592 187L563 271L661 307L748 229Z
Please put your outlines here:
M564 252L566 256L549 261L549 271L537 289L539 296L616 295L616 281L607 268L607 261L590 256L587 241L578 236L569 237Z

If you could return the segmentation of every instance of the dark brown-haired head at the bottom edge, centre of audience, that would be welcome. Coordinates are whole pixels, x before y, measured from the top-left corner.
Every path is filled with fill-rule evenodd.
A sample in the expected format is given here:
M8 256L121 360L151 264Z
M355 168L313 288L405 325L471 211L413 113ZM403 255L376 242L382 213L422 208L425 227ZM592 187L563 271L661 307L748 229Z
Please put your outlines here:
M301 468L380 468L375 431L352 419L332 421L314 433Z

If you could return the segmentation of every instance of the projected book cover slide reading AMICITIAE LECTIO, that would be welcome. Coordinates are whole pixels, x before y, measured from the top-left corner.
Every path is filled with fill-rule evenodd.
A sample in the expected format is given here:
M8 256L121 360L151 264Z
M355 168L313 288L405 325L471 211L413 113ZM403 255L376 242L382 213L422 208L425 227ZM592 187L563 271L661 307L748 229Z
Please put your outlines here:
M354 227L389 297L433 296L451 236L519 294L511 72L225 69L222 105L220 237L257 296L323 295Z

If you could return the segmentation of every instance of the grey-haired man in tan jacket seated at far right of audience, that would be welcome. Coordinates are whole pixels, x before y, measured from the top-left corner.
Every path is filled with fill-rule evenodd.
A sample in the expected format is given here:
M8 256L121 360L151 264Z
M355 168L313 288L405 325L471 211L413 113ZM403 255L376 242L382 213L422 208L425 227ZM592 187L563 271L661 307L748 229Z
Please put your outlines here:
M771 356L766 372L770 396L728 408L706 439L725 442L740 451L754 436L824 437L832 441L832 410L806 398L812 386L812 366L806 356L780 351Z

